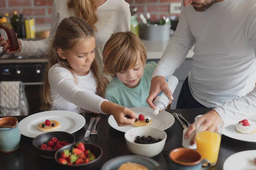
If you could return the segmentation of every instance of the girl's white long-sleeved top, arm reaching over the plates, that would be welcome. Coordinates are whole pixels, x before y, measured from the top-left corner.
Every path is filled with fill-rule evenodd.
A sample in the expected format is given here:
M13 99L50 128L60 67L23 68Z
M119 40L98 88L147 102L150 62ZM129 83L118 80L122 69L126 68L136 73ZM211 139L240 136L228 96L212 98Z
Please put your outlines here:
M101 103L108 101L96 95L96 81L92 71L86 76L77 76L59 64L48 72L52 110L84 113L84 109L103 113Z

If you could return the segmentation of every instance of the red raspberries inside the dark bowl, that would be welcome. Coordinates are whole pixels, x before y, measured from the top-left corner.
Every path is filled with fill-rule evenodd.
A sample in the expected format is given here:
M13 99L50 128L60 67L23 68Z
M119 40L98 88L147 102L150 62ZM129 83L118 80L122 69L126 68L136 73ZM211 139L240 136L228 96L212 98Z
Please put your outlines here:
M57 150L65 145L68 145L67 141L58 141L57 138L52 137L47 143L41 144L40 148L42 150Z

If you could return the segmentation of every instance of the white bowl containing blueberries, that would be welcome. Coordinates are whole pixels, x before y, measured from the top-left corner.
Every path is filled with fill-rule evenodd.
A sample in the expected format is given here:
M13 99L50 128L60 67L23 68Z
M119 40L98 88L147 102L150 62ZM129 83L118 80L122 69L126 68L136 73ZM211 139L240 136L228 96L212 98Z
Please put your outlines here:
M162 141L153 144L138 144L134 142L137 136L151 136L155 139L162 139ZM163 150L166 138L165 131L155 127L135 127L125 133L125 141L131 153L147 157L159 154Z

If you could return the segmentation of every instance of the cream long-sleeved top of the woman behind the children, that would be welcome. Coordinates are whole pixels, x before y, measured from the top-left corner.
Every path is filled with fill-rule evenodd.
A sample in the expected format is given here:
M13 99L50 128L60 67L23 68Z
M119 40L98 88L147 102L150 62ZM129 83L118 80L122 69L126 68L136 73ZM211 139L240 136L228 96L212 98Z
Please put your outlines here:
M54 0L52 7L52 22L49 37L38 41L21 40L21 51L15 55L19 56L44 56L50 50L50 45L55 36L58 25L64 18L76 17L74 11L70 11L67 6L68 0ZM97 32L95 34L96 49L95 57L99 63L100 76L103 76L102 51L105 43L112 34L119 31L131 30L131 12L129 4L125 0L107 0L97 8L99 20L95 24ZM104 75L108 80L111 76Z

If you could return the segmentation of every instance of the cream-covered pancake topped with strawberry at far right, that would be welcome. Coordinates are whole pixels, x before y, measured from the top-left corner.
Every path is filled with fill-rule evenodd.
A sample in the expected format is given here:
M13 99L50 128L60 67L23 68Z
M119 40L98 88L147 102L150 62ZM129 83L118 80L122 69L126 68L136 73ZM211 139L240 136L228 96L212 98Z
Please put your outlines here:
M240 133L254 133L256 131L256 126L247 119L238 122L235 128Z

